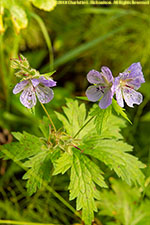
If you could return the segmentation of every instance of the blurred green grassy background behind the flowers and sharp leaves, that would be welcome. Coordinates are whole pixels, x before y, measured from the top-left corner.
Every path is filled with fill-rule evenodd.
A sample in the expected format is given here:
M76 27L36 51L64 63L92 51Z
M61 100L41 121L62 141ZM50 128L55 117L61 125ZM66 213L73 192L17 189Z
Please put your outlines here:
M128 124L122 132L125 140L134 146L133 154L147 165L145 174L148 186L150 182L150 7L147 5L59 5L50 12L23 2L19 3L19 7L22 7L26 17L19 18L18 23L15 20L16 14L13 17L7 7L0 14L0 143L12 141L10 134L12 131L25 130L38 135L38 121L44 115L40 104L37 104L34 116L21 105L19 95L12 94L18 79L10 68L10 58L18 57L21 53L27 57L30 65L41 73L52 69L54 58L56 73L53 78L57 81L57 87L53 89L54 99L46 105L46 108L57 127L60 124L56 120L54 111L61 111L66 97L75 98L85 95L88 87L86 74L89 70L100 70L101 66L105 65L112 70L114 76L117 76L132 63L141 62L146 79L146 83L140 88L144 101L140 106L126 107L133 124ZM24 24L26 20L28 25ZM86 104L89 107L90 103ZM21 179L23 170L11 161L1 160L0 163L0 219L68 225L79 223L78 218L44 188L32 197L27 196L25 181ZM141 210L139 214L148 211L149 189L144 193L146 203L141 203L141 192L138 188L130 190L131 193L133 192L131 196L127 193L129 187L117 181L113 182L113 187L120 187L119 190L122 190L119 194L124 196L122 209L119 208L121 211L117 211L119 216L113 210L114 213L108 213L107 208L109 209L108 206L111 208L111 204L114 206L118 192L109 193L112 195L111 200L114 199L112 203L108 197L110 195L105 193L106 199L109 200L107 204L102 201L100 208L105 210L102 215L96 215L95 224L131 225L129 221L126 222L127 215L122 211L130 209L128 215L131 214L131 217L136 217L137 205ZM53 184L51 185L53 187ZM67 185L68 177L60 176L53 187L66 200L68 200ZM136 202L133 207L129 199L131 203ZM75 207L75 202L71 204ZM115 208L117 209L117 206ZM149 225L149 218L145 219L145 222L137 221L132 224Z

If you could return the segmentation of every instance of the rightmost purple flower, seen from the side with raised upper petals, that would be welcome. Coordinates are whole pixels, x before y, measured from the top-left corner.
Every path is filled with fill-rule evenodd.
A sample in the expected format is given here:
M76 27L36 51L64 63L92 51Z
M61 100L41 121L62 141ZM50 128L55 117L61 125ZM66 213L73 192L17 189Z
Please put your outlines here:
M143 97L141 93L135 91L140 88L141 83L144 83L144 76L142 73L141 64L133 63L123 73L120 73L115 78L114 87L116 92L116 99L121 107L124 107L123 99L126 104L133 107L133 104L141 104Z

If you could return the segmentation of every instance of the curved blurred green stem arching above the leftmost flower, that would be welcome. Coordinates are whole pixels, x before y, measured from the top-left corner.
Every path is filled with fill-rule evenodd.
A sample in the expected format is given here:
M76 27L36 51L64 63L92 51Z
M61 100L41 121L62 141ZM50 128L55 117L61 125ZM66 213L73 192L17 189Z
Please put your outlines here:
M44 24L44 21L42 20L42 18L40 16L38 16L35 13L30 13L30 15L37 21L37 23L39 24L41 31L43 33L43 36L45 38L48 50L49 50L49 62L50 62L50 70L52 71L54 69L54 55L53 55L53 48L52 48L52 42L50 39L50 36L48 34L47 28Z

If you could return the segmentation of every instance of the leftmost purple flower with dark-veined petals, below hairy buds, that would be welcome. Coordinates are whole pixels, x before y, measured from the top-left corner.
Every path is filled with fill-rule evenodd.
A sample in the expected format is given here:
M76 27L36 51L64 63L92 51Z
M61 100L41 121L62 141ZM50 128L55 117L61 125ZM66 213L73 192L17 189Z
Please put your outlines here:
M56 86L56 82L52 79L46 79L43 76L38 79L23 80L16 84L13 89L13 94L20 95L21 103L27 107L32 108L36 105L36 96L41 103L48 103L54 97L53 90L50 87Z

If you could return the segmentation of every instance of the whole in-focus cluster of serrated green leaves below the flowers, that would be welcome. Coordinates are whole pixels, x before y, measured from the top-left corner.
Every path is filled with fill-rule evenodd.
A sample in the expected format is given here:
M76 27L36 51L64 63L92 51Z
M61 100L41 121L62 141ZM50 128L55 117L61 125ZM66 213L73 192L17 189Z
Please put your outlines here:
M122 140L120 127L125 125L122 119L112 115L111 108L101 110L101 114L97 107L91 110L94 114L87 115L85 104L68 99L67 107L63 107L65 115L56 113L64 125L62 133L50 131L48 139L47 135L36 137L28 133L13 133L19 142L1 147L1 157L21 162L25 170L29 168L23 179L28 179L26 186L30 195L41 188L43 182L49 182L52 175L64 174L71 169L69 199L76 198L76 209L82 209L86 225L94 220L94 211L97 211L95 200L101 199L99 187L107 188L101 162L130 185L143 186L144 183L144 175L140 171L144 164L128 153L132 146ZM93 120L94 117L99 118L98 122ZM115 123L111 123L112 120ZM43 131L43 126L40 128Z

